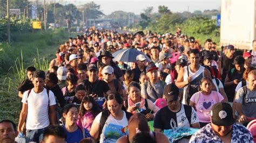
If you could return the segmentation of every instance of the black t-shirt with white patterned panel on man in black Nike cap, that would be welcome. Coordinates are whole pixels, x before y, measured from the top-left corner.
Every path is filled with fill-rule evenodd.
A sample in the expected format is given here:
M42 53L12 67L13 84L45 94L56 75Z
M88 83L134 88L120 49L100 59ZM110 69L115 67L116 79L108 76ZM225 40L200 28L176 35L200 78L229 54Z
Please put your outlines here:
M191 124L198 122L196 111L189 105L181 104L178 112L172 112L168 106L165 106L157 112L154 118L154 128L164 131L177 127L190 127Z

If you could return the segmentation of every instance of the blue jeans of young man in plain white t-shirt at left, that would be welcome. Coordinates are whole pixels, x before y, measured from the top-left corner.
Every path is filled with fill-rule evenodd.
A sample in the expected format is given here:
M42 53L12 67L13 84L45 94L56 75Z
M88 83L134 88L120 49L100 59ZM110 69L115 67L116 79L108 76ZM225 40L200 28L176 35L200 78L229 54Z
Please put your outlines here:
M43 140L43 133L45 128L37 130L26 130L26 142L41 142Z

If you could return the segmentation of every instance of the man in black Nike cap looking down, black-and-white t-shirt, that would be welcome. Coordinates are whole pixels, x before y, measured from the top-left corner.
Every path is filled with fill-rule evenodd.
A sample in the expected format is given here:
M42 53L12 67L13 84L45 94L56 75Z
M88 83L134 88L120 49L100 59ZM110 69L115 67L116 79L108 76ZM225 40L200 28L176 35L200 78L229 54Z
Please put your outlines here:
M164 96L167 106L161 108L154 118L155 132L178 127L200 128L196 111L191 106L179 102L179 89L175 84L166 85Z

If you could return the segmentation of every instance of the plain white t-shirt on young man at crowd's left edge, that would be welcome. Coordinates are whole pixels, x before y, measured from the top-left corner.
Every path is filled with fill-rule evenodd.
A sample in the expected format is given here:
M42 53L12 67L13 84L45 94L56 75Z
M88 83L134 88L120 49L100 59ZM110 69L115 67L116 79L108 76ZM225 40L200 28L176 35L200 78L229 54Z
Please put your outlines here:
M25 91L22 98L22 103L28 104L26 128L29 130L37 130L49 126L49 106L56 104L53 92L49 91L49 98L45 88L39 94L36 94L36 92L31 89L29 97L28 92L29 90Z

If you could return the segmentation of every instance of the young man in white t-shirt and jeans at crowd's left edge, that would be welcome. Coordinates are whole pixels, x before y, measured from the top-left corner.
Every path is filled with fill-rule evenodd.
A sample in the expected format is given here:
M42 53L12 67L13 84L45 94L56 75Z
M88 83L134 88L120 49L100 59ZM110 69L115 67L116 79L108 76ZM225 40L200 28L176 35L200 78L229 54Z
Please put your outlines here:
M45 73L36 70L33 73L34 88L25 91L22 97L22 111L19 115L18 132L26 126L26 141L40 142L43 132L50 124L56 124L56 101L52 91L44 88ZM24 133L24 132L23 132Z

